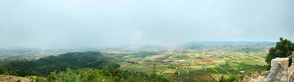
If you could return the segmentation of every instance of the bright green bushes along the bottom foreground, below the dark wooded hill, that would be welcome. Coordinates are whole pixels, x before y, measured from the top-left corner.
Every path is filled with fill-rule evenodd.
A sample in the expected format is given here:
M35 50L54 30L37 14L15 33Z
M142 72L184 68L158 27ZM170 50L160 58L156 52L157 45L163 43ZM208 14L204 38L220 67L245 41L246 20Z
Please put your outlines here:
M153 76L155 75L155 76ZM152 73L134 73L122 71L114 67L83 68L64 72L51 72L47 77L25 76L32 82L170 82L162 75Z

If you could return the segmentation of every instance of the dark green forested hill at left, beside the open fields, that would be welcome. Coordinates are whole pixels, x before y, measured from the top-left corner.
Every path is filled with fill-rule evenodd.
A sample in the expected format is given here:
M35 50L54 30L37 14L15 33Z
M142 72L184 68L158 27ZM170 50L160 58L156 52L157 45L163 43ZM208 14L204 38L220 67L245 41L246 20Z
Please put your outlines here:
M91 67L113 66L120 67L119 64L102 58L100 52L75 52L58 56L47 56L34 61L11 61L0 64L6 71L12 71L19 76L47 76L50 72L66 71L66 68L80 69Z

